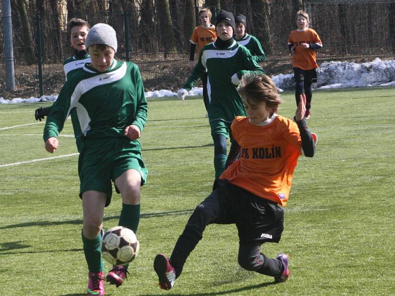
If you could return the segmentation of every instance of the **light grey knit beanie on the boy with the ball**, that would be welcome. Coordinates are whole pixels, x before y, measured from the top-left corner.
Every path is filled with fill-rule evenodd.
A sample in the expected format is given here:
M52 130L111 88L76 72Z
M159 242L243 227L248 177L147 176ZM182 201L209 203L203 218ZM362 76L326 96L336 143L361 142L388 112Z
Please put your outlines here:
M88 35L85 39L86 49L93 44L104 44L111 46L117 52L117 33L107 24L96 24L90 28Z

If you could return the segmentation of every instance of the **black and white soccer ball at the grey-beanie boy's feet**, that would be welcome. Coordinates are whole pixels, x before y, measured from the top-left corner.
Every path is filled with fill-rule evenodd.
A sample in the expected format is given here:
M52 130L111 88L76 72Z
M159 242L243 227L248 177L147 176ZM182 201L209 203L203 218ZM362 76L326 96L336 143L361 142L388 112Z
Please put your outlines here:
M140 243L129 228L108 229L102 238L102 256L113 265L126 265L136 259Z

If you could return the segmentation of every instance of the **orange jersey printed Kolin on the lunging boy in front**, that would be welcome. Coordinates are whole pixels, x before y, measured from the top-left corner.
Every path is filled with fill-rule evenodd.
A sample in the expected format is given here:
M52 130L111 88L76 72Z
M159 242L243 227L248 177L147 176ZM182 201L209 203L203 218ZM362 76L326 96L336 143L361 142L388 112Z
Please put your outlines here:
M220 179L285 206L302 139L295 122L274 115L264 126L253 125L248 117L237 116L232 135L241 147L241 156Z

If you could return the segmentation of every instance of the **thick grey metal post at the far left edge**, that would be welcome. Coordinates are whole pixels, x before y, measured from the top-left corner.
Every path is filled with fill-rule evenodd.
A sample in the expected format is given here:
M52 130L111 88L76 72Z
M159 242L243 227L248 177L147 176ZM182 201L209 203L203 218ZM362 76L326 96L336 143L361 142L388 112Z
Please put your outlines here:
M10 0L2 1L2 9L3 9L5 88L7 91L10 91L10 90L15 90L14 47L12 42Z

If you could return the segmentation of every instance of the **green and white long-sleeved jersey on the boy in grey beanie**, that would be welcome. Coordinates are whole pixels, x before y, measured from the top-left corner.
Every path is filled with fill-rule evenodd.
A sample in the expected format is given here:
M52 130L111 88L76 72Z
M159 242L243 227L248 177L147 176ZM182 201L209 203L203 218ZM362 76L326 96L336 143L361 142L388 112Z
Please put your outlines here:
M106 72L85 65L63 86L44 127L44 142L57 137L75 109L86 137L124 137L126 126L140 131L147 121L148 104L136 64L114 60Z

